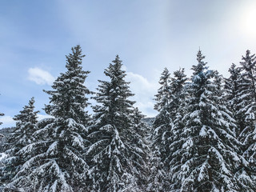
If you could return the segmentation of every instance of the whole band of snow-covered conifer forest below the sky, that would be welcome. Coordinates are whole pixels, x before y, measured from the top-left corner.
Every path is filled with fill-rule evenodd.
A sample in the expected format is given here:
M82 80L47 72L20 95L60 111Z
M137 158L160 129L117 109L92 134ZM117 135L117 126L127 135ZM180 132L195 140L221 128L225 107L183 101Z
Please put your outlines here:
M201 50L191 77L183 68L173 74L165 68L153 120L134 106L118 55L102 70L108 80L98 80L96 92L85 86L84 57L74 46L66 72L43 90L51 118L38 121L31 95L14 116L16 126L1 130L0 191L256 191L250 50L230 65L228 78L209 68Z

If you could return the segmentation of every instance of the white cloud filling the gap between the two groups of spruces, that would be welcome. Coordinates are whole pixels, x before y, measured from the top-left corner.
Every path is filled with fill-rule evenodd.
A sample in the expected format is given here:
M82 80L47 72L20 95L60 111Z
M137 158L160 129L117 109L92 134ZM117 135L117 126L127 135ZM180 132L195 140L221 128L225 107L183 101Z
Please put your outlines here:
M158 84L150 82L140 74L126 73L126 80L130 82L130 90L135 94L135 106L148 117L154 117L157 112L154 110L154 94L157 93Z

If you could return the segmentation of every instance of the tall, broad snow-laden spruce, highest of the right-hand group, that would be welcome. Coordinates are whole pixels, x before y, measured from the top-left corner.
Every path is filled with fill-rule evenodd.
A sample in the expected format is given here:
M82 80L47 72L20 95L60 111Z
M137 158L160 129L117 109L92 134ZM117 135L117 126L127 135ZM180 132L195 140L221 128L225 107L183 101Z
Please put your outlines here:
M180 148L174 154L180 164L175 164L173 174L181 187L174 191L244 190L238 187L233 175L242 158L236 154L234 119L222 106L218 73L207 70L200 50L197 56L198 65L192 67L186 114L182 118Z

